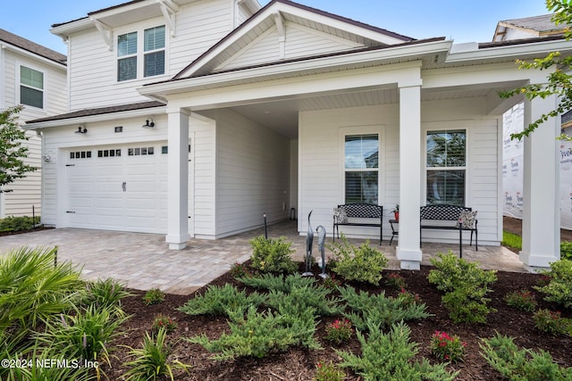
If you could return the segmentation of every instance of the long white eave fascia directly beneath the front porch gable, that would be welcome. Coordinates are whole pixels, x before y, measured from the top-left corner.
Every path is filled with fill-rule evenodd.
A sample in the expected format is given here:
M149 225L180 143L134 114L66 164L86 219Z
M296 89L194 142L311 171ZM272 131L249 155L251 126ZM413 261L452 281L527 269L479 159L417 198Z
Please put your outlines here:
M344 67L349 67L351 65L363 65L372 62L383 63L384 61L394 59L416 61L420 59L419 57L427 54L446 54L449 52L450 46L451 41L438 41L412 46L399 46L395 48L388 47L374 51L342 54L339 56L327 56L308 61L288 62L265 66L262 68L229 71L191 79L179 79L171 82L138 87L137 90L141 95L166 96L184 93L191 90L200 90L203 88L227 87L243 80L251 82L256 80L266 80L277 75L283 76L286 73L303 73L316 70L343 70Z

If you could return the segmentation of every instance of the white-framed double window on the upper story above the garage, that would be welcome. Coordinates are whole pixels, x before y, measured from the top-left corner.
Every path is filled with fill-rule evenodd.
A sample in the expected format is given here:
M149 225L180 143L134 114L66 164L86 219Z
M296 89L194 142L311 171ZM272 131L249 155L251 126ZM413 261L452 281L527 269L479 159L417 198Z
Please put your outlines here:
M164 74L165 28L130 32L117 37L117 81L137 79Z

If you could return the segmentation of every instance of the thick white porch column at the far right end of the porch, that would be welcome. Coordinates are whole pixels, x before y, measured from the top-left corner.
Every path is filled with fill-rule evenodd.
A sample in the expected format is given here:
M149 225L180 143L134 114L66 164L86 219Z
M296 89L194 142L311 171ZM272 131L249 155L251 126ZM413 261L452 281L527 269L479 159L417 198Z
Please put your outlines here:
M525 102L525 126L557 105L555 96ZM520 261L548 268L560 258L560 118L550 118L525 137L523 224Z

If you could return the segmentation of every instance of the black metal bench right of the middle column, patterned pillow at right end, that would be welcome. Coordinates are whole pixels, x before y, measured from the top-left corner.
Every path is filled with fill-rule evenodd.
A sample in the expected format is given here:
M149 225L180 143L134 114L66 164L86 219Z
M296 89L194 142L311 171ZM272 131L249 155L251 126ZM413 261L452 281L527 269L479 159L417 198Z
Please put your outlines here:
M475 218L476 211L474 213L468 213L473 211L471 208L466 208L464 206L457 205L427 205L421 207L420 213L420 228L419 228L419 245L421 245L421 234L424 228L432 229L444 229L444 230L458 230L458 246L459 246L459 256L463 257L463 231L471 232L470 245L473 245L473 233L475 233L475 249L479 250L478 244L478 231L476 230L476 223L471 224L468 221L469 217L467 214L473 214L472 218ZM465 220L462 220L465 217ZM436 224L432 221L448 221L448 224Z

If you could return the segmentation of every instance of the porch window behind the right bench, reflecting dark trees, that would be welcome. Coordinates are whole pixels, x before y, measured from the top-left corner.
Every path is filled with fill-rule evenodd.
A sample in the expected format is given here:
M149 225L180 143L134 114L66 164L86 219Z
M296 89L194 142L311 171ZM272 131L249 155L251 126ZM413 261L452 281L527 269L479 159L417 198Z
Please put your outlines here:
M467 131L427 132L427 205L465 206Z

